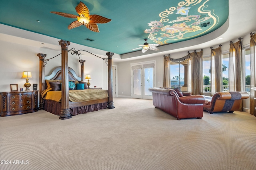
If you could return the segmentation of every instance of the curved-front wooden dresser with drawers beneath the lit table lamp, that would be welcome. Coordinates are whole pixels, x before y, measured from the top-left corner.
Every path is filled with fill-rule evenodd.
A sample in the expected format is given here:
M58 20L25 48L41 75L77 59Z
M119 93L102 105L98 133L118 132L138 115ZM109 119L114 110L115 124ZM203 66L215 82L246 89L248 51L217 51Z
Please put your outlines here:
M38 111L38 90L0 92L1 116L20 115Z

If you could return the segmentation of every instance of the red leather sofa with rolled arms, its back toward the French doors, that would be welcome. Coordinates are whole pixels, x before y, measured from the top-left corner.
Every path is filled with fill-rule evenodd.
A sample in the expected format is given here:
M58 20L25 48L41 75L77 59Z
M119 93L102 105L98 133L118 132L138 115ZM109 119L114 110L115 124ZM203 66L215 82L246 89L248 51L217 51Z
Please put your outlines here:
M182 93L179 89L171 88L149 88L148 90L152 92L153 105L176 119L202 119L204 96Z

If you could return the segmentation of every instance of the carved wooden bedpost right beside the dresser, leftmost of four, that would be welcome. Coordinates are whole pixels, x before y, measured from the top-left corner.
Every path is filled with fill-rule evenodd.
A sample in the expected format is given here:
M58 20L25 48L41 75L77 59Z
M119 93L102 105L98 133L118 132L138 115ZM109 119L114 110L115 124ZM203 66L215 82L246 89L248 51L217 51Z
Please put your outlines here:
M38 53L37 56L39 57L39 109L44 109L44 99L41 97L41 93L44 90L44 57L46 54Z

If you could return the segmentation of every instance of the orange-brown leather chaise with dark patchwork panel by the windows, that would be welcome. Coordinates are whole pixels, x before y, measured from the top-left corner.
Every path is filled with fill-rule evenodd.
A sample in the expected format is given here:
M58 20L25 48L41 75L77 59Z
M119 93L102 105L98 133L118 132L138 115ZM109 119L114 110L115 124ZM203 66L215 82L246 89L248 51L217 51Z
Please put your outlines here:
M211 114L226 111L233 113L239 109L242 100L249 97L247 92L216 92L212 97L205 96L203 107Z

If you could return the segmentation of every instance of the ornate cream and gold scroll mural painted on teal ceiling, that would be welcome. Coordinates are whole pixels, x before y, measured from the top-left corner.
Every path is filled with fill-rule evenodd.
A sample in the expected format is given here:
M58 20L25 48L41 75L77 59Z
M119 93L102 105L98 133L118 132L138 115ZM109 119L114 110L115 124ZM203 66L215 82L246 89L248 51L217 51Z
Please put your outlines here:
M219 21L214 10L206 4L209 0L186 0L181 1L177 6L172 6L159 14L159 21L148 23L150 29L148 39L160 45L168 44L173 40L179 42L193 37L206 34L214 28ZM192 11L192 12L190 12ZM190 15L190 13L192 13ZM171 20L172 15L176 15L176 20ZM172 16L173 17L173 16ZM201 24L201 26L200 26ZM204 29L204 27L207 27ZM196 35L189 33L198 32Z

